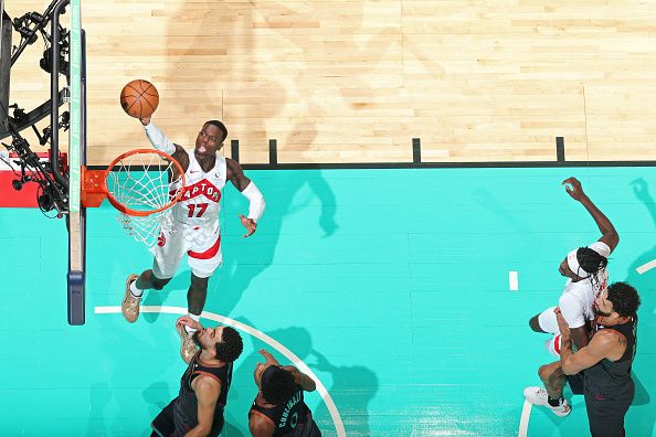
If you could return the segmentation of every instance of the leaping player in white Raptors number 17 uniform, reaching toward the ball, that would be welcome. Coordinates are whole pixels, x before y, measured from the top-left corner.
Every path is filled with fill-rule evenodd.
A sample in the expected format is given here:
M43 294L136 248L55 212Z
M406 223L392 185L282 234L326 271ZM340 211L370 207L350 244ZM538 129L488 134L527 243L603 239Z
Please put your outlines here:
M187 254L191 267L187 305L189 317L198 321L205 305L209 278L222 262L219 227L221 190L231 181L250 201L248 216L240 214L242 225L246 228L244 237L253 235L257 228L257 221L264 212L264 198L255 183L244 175L236 161L218 153L228 137L228 129L221 121L210 120L202 126L193 150L184 150L171 142L150 117L140 121L152 146L169 153L180 163L187 181L181 199L171 206L158 243L151 249L155 255L152 268L127 278L121 303L123 316L128 322L135 322L139 317L139 301L144 290L161 290L171 280ZM177 174L173 180L176 178ZM182 337L182 359L189 362L198 351L191 338L194 330L179 324L178 332Z

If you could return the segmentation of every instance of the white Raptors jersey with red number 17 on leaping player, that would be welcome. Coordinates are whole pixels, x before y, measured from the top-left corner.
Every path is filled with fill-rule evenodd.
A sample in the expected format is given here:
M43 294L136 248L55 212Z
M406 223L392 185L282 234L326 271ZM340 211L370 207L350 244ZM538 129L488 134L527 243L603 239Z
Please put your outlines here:
M214 167L204 172L195 160L193 150L187 150L189 168L184 173L186 186L182 196L171 206L173 223L204 228L208 232L219 230L221 210L221 190L225 186L225 158L216 154ZM174 185L171 186L176 189Z

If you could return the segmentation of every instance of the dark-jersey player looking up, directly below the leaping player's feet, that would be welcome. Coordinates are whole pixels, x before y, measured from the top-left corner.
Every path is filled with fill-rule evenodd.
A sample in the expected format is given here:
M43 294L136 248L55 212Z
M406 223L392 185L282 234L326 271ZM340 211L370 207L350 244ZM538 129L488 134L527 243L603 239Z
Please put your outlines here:
M232 363L243 350L242 338L230 327L203 328L188 316L177 324L195 329L200 351L180 380L180 392L152 420L154 436L219 436L232 382Z

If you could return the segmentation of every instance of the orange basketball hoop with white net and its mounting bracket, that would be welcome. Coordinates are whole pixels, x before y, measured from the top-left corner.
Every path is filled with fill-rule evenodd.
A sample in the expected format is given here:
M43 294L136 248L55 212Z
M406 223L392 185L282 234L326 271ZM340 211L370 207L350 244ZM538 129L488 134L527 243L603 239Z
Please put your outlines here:
M156 149L130 150L105 170L82 168L82 204L97 207L105 198L118 210L118 222L136 241L155 246L168 209L180 200L184 170Z

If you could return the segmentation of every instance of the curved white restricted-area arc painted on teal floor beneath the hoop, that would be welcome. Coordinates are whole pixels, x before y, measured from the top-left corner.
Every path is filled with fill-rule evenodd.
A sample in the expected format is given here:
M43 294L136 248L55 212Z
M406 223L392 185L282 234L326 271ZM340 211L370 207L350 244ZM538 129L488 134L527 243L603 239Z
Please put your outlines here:
M96 315L114 315L114 313L120 312L120 307L95 307L94 312ZM187 316L187 308L144 306L144 307L141 307L141 312L160 312L160 313ZM263 342L265 342L268 345L271 345L272 348L274 348L276 351L281 352L283 355L285 355L285 358L287 360L292 361L292 363L295 366L297 366L303 373L307 374L313 380L315 380L315 382L317 383L317 392L319 392L319 395L321 395L321 398L326 403L326 407L328 408L328 411L330 412L330 416L332 417L332 423L335 424L335 429L337 430L337 436L346 437L346 430L343 428L343 423L341 422L341 416L339 415L339 412L337 411L337 406L335 405L335 402L332 402L332 397L330 397L330 394L328 393L328 391L326 390L324 384L321 384L321 381L319 381L317 375L315 375L315 373L307 366L307 364L305 364L290 350L288 350L282 343L279 343L278 341L268 337L264 332L258 331L255 328L250 327L250 326L242 323L240 321L236 321L234 319L230 319L228 317L220 316L214 312L208 312L208 311L203 311L201 313L201 317L204 319L214 320L215 322L219 322L219 323L231 326L233 328L236 328L241 331L246 332L250 335L253 335L253 337L262 340Z

